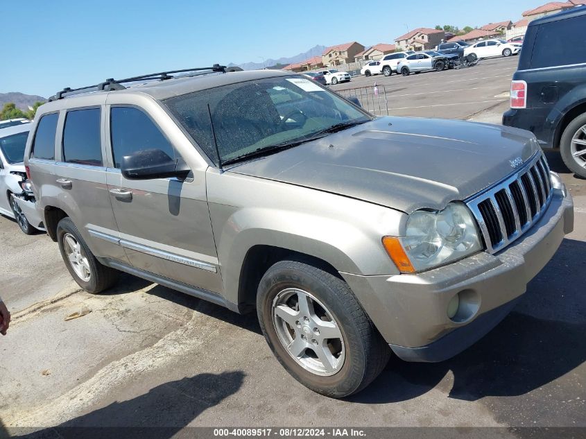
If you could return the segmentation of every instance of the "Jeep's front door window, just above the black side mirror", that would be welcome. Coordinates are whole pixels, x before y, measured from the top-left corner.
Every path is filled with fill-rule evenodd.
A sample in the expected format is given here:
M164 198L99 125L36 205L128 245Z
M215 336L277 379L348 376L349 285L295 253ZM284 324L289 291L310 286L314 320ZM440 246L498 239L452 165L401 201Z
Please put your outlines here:
M120 168L122 157L139 150L156 148L175 158L175 150L169 140L150 117L135 107L112 107L110 139L114 166L117 168Z

